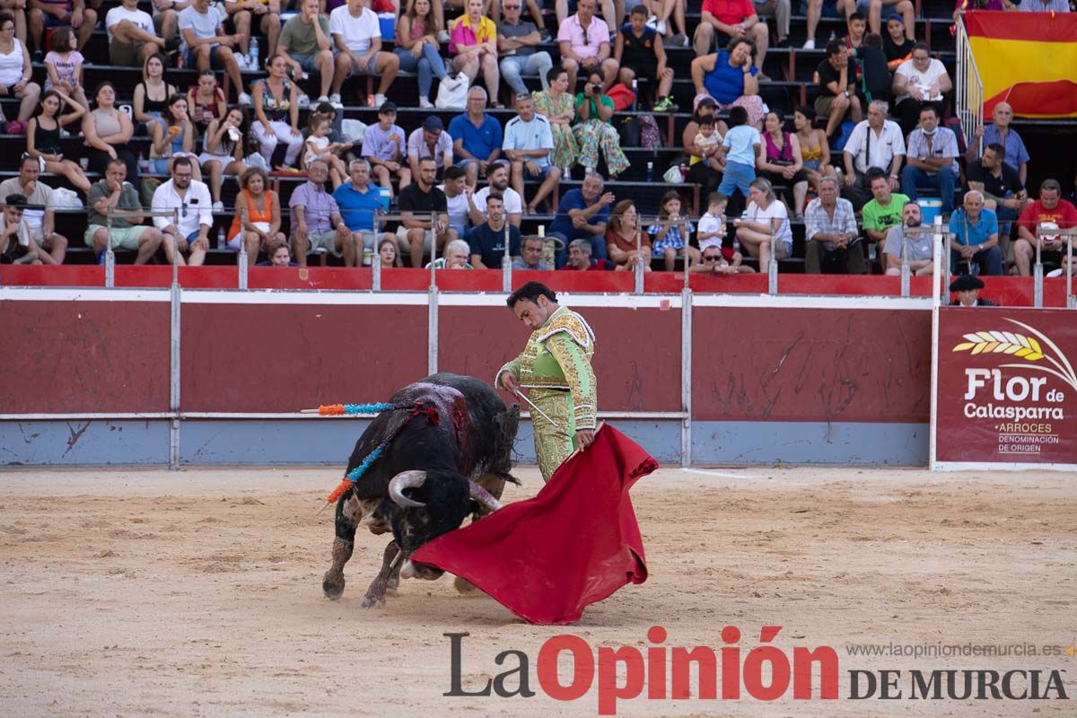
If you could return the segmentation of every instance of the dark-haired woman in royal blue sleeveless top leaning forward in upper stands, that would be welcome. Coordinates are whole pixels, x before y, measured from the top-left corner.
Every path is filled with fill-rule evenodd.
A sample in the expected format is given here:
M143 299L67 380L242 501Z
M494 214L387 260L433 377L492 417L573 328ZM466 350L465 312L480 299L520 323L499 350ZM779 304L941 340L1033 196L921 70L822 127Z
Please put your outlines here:
M691 61L691 81L696 96L710 95L723 111L733 107L747 110L747 122L763 127L763 98L759 97L759 70L752 66L754 46L744 38L733 38L715 55Z

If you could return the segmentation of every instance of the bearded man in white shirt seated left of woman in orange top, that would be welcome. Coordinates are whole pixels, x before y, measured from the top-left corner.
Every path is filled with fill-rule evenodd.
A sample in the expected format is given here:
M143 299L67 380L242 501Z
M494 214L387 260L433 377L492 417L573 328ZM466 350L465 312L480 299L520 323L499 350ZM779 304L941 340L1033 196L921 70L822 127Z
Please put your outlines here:
M172 160L172 179L153 193L151 208L154 212L179 210L179 226L171 216L155 216L153 224L164 235L162 244L169 264L197 267L206 259L209 250L209 230L213 226L213 200L205 182L192 179L190 157ZM179 250L179 252L177 252ZM183 253L191 256L184 261Z

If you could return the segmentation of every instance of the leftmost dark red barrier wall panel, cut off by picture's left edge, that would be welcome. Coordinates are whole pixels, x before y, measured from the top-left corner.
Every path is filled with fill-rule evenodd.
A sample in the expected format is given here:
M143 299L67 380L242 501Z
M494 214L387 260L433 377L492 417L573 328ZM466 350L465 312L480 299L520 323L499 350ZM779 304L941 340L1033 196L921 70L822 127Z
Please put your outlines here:
M0 412L168 411L167 301L5 301Z

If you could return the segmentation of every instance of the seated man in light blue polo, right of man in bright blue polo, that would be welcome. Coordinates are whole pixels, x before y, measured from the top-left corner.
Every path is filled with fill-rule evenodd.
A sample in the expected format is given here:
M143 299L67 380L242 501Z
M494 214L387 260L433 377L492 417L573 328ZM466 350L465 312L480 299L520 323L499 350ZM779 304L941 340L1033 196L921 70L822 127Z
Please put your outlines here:
M509 2L519 0L509 0ZM527 213L535 214L537 206L561 180L561 170L549 161L554 150L554 133L549 121L535 114L535 103L527 93L516 97L516 116L505 125L501 143L505 157L513 163L513 188L523 197L523 180L541 180L542 184L527 203Z

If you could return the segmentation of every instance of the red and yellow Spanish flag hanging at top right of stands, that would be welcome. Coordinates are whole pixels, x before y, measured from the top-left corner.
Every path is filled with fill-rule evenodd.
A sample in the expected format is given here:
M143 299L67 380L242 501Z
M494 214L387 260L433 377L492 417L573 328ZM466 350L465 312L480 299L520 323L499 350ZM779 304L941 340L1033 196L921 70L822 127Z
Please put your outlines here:
M1077 117L1077 14L970 12L965 29L985 116L1008 102L1022 117Z

